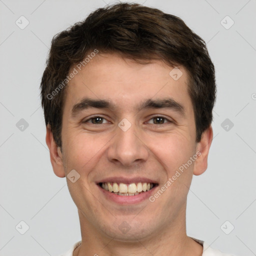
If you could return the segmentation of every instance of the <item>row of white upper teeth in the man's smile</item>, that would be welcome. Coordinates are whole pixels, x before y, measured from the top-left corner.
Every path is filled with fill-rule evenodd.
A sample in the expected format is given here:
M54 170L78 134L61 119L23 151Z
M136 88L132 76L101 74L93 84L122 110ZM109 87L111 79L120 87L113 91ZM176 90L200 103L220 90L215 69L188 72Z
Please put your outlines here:
M149 182L138 182L130 183L130 184L124 184L119 183L119 185L116 182L104 182L102 183L102 188L105 190L108 190L109 192L119 192L119 193L136 193L141 191L148 191L153 187L153 183Z

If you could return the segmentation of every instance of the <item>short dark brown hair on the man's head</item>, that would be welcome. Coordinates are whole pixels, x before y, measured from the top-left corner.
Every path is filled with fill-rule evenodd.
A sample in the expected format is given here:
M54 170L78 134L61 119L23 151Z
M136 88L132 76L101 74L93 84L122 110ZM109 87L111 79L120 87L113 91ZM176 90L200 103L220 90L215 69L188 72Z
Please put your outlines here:
M200 141L211 124L216 95L214 65L205 42L177 16L137 3L118 3L96 9L52 38L40 88L45 124L50 124L58 146L66 87L63 80L73 64L95 49L136 61L158 58L170 66L183 66L189 77L196 141Z

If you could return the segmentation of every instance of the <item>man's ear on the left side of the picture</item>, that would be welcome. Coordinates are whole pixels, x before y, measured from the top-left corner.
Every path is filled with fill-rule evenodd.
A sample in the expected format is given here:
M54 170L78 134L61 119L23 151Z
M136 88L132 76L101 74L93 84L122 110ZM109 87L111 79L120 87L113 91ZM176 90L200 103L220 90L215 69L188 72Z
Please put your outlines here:
M62 153L61 153L60 147L57 146L53 138L52 131L49 124L46 126L45 141L50 151L50 162L55 175L58 177L65 177L65 171L64 171L63 162L62 162Z

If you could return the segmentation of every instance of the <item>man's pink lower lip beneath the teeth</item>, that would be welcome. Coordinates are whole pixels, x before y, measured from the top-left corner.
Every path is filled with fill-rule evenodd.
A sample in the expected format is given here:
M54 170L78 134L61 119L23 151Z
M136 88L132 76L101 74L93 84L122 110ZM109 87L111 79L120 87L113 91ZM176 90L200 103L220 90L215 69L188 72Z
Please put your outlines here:
M153 194L154 190L156 189L157 185L154 186L149 191L141 192L139 194L135 195L118 195L113 192L109 192L105 189L103 189L101 186L97 185L99 187L99 190L103 193L103 195L111 201L114 201L119 204L136 204L140 203L144 200L149 200L149 197L151 194Z

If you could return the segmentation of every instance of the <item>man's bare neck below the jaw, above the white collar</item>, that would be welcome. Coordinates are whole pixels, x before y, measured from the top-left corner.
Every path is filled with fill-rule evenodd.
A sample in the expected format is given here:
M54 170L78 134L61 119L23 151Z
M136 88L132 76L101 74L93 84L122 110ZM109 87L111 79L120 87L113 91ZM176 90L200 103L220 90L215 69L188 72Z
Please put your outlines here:
M84 216L78 211L82 242L74 252L73 256L191 256L202 255L202 245L186 235L185 209L169 225L164 225L160 231L146 235L143 238L131 241L116 240L109 237L91 226ZM89 235L88 235L89 234Z

